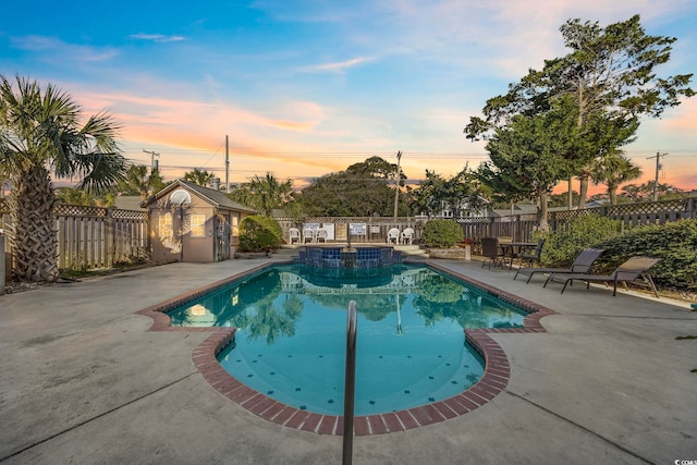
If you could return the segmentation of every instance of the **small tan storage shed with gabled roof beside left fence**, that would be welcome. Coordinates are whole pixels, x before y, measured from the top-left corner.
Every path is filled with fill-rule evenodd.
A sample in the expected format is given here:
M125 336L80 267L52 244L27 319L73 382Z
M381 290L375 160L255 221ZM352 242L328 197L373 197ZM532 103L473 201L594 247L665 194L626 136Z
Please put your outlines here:
M256 210L225 193L178 180L150 196L152 260L222 261L234 256L240 222Z

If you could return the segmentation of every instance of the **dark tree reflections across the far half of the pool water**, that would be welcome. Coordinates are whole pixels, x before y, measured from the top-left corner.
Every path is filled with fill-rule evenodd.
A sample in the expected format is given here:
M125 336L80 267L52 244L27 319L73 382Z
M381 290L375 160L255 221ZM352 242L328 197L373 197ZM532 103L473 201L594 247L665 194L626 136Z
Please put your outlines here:
M351 270L279 266L179 307L169 316L173 326L235 327L249 340L272 344L295 334L306 306L345 310L351 299L368 321L394 321L398 334L406 330L402 327L405 304L426 327L445 320L463 329L521 327L524 316L482 291L432 269L407 265Z

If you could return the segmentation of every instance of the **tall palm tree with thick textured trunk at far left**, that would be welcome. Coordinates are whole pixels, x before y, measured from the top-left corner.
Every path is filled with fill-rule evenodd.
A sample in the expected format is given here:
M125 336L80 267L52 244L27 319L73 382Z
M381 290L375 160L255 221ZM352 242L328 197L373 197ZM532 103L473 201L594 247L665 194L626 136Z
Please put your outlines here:
M77 187L100 193L121 181L125 159L115 136L119 125L100 112L84 125L82 108L52 85L0 76L0 179L12 184L9 240L20 280L56 281L58 271L53 207L56 178L78 176Z

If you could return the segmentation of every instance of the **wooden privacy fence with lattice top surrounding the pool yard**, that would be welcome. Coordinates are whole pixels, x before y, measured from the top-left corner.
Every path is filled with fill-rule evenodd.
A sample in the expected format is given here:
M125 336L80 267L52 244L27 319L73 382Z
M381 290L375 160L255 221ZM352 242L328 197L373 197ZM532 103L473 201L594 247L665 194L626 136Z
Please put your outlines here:
M0 199L0 215L7 225L9 217ZM582 210L551 211L550 230L566 228L568 222L584 215L599 215L623 221L626 225L663 224L686 218L697 218L697 198L655 203L622 204L586 208ZM276 218L288 238L290 228L303 224L332 225L333 238L328 242L382 243L391 228L415 230L418 243L426 218L355 217L355 218ZM528 242L537 225L536 215L513 215L491 218L458 218L465 237L479 241L486 236L511 236L514 241ZM119 210L100 207L59 205L56 208L58 232L58 261L61 269L91 269L112 267L118 261L149 258L147 211ZM5 241L8 247L8 241ZM8 270L9 271L9 270Z

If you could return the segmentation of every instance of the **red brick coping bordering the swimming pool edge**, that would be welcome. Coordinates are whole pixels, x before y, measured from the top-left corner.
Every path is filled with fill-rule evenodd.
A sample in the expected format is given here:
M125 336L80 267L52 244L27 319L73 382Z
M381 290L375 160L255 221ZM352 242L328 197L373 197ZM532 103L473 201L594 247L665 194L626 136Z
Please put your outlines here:
M166 311L216 291L232 281L254 274L266 268L284 264L290 264L290 261L273 261L255 267L248 271L216 281L186 294L144 308L137 311L137 314L152 318L152 326L149 331L211 333L204 342L194 348L192 354L194 365L203 375L204 379L208 381L216 391L236 402L253 414L289 428L318 435L342 436L343 416L316 414L283 404L245 386L222 368L216 356L234 339L235 328L172 327L170 325L170 318L166 315ZM548 315L555 315L554 310L468 278L433 261L418 261L418 264L426 264L435 270L451 274L502 301L523 308L528 311L523 320L524 327L466 329L465 339L485 359L484 376L476 384L460 394L431 404L399 412L356 416L354 419L354 433L356 436L383 435L419 428L465 415L492 401L508 386L511 377L511 367L505 352L489 334L547 332L541 326L540 319Z

